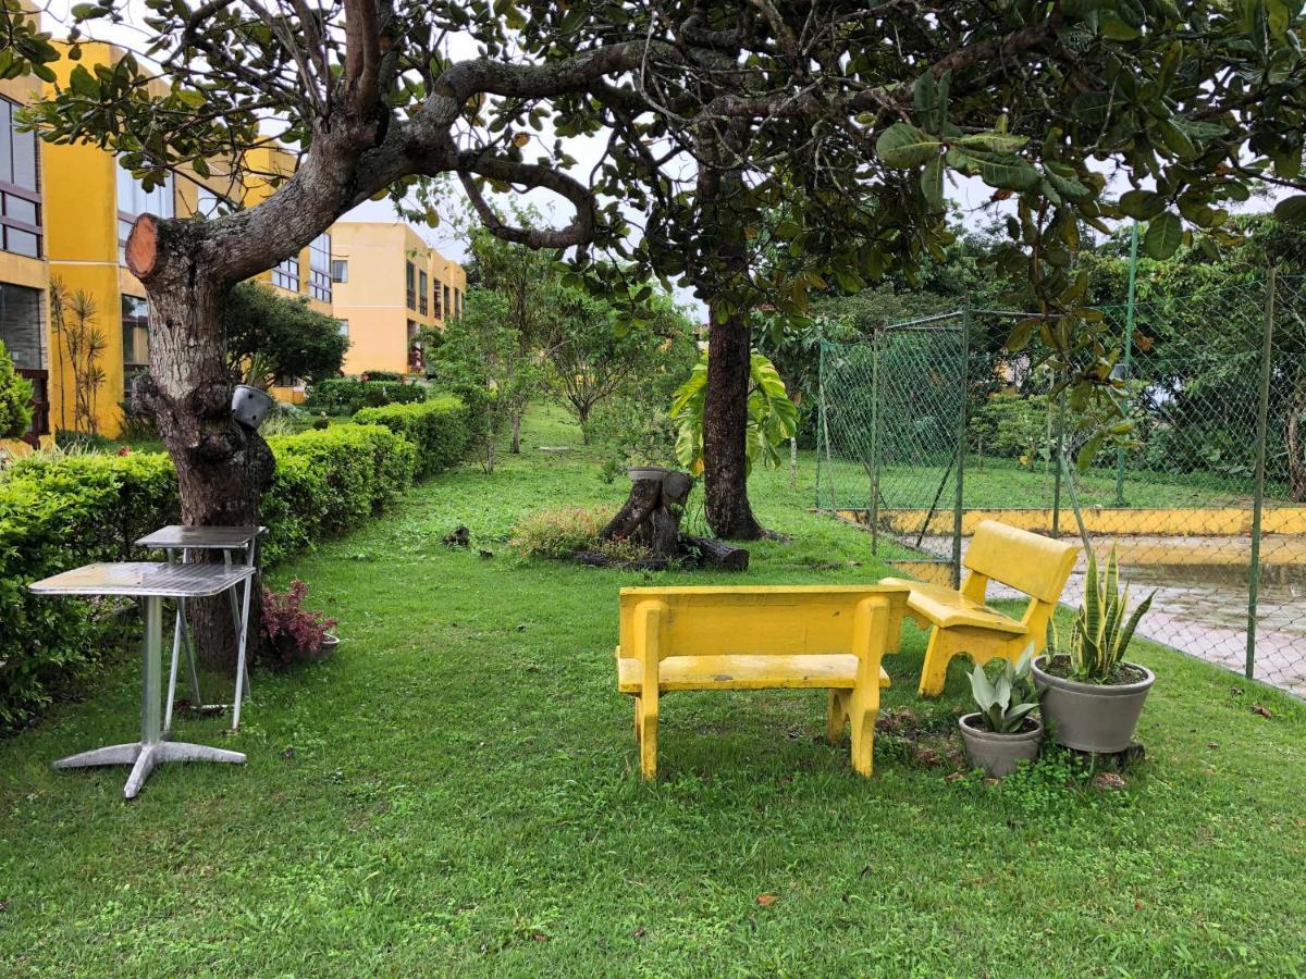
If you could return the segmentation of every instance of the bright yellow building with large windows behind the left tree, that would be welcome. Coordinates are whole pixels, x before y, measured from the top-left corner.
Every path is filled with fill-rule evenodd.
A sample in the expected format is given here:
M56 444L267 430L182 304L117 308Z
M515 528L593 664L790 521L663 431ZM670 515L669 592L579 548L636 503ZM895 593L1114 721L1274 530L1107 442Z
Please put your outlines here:
M67 84L68 74L77 64L88 68L114 64L123 55L120 48L99 42L88 42L81 47L80 61L61 60L54 65L60 84ZM52 89L54 86L50 90ZM162 187L146 192L127 170L118 166L111 153L97 146L44 144L40 153L47 188L44 252L48 274L61 283L64 295L71 300L63 316L65 335L57 338L57 342L55 333L60 332L59 317L54 317L55 321L51 322L50 349L56 354L55 364L50 368L51 427L74 427L77 393L67 334L85 319L88 326L102 338L98 363L102 380L94 397L88 401L98 431L114 436L121 428L124 411L129 410L132 379L149 367L149 304L145 287L127 269L123 255L132 223L146 211L161 218L195 214L217 217L225 209L221 194L257 202L272 193L272 175L289 175L294 171L295 157L272 144L252 150L249 168L268 176L248 180L238 192L230 193L226 191L230 180L223 178L222 171L226 168L221 163L210 167L213 174L206 180L208 185L199 178L168 176ZM210 187L219 188L221 193L214 193ZM321 235L298 256L259 278L283 295L307 299L310 307L329 316L330 236ZM74 298L78 292L90 299L91 317L82 317L76 311L78 304ZM293 380L287 380L287 386L276 389L274 394L285 399L302 399L302 388L294 385Z

